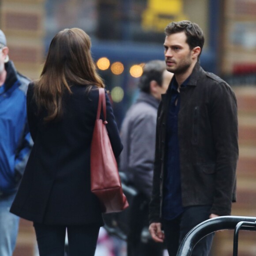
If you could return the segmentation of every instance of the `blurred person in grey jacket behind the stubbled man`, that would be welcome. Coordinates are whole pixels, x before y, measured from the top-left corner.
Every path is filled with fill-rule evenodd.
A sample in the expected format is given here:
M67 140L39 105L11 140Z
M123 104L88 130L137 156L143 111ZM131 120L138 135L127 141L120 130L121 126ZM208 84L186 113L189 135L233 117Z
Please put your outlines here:
M128 235L128 256L162 255L161 245L153 241L147 244L142 243L140 235L148 222L148 202L153 183L157 109L161 94L166 92L172 77L173 73L166 70L166 64L162 60L152 60L145 64L138 84L139 97L128 109L121 127L124 150L120 155L120 171L127 174L128 181L147 202L143 214L145 222L138 220L136 230Z

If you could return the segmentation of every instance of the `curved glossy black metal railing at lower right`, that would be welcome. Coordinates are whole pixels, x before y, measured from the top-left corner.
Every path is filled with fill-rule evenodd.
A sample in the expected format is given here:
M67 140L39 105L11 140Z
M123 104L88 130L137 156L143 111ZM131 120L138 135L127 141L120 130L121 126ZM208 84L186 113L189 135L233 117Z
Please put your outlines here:
M188 232L177 256L191 256L193 248L203 237L218 230L234 230L233 256L237 256L239 230L256 231L256 217L222 216L208 219Z

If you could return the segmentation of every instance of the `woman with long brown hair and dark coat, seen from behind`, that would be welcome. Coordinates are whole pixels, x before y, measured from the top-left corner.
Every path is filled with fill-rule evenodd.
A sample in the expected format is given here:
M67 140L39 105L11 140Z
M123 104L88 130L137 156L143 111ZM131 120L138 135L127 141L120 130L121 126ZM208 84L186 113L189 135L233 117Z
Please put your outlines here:
M27 116L34 146L11 212L34 222L40 256L93 256L103 225L90 191L90 144L104 87L90 54L90 37L65 29L53 38L40 79L30 83ZM121 150L109 98L106 124L113 152Z

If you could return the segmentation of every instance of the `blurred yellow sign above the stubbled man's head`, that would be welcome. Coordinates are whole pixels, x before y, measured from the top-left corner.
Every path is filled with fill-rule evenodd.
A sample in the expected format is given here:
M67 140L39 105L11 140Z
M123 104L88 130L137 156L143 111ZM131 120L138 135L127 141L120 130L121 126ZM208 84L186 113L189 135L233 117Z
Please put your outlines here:
M142 14L144 30L163 32L168 23L187 19L183 13L183 0L148 0Z

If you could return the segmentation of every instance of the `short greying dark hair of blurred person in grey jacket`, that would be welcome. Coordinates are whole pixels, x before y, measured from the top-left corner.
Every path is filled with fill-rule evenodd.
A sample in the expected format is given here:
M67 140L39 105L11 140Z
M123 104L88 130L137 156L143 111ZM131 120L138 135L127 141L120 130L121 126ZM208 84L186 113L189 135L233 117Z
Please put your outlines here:
M166 63L163 60L151 60L143 67L143 74L139 79L138 87L141 91L150 93L150 82L156 81L160 87L163 82L163 72L166 70Z

